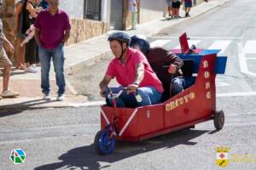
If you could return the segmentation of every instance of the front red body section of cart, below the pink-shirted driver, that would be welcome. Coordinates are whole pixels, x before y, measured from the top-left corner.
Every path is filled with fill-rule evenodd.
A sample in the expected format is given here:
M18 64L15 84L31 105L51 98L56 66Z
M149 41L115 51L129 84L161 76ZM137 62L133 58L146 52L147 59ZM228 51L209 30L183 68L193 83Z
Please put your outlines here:
M125 123L128 122L132 116L133 111L137 111L131 122L117 139L134 141L139 140L140 137L148 133L156 133L164 129L164 105L148 105L136 109L117 108L114 116L119 118L117 129L120 132ZM102 106L102 112L108 117L109 122L113 120L113 108ZM103 114L101 114L102 129L108 125Z

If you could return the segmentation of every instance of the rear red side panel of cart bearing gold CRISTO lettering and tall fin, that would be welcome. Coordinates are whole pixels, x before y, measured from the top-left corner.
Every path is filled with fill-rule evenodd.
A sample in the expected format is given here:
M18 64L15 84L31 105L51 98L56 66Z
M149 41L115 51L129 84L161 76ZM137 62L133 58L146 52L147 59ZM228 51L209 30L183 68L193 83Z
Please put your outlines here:
M212 118L216 105L215 59L216 54L203 56L195 84L165 102L165 127Z

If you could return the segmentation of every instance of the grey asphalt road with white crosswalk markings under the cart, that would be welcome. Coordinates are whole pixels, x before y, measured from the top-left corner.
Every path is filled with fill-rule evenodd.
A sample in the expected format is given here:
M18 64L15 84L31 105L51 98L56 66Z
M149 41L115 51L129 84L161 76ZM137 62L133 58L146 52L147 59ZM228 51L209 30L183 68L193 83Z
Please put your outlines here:
M100 129L98 106L1 111L0 169L222 169L215 163L218 146L230 148L225 169L256 169L255 6L253 0L234 0L150 37L155 44L166 40L165 48L176 48L177 37L187 31L198 48L222 44L220 55L229 59L225 75L217 77L217 108L226 118L221 131L215 131L212 121L203 122L139 143L119 142L112 155L97 156L93 140ZM97 84L108 61L68 78L80 94L102 100ZM26 151L25 163L9 160L15 148Z

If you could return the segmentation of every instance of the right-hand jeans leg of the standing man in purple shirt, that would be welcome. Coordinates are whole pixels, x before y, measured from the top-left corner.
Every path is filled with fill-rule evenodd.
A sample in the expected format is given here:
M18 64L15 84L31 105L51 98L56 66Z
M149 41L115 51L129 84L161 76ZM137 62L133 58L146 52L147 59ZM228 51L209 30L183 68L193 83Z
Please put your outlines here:
M64 77L64 51L60 44L53 50L53 63L55 66L56 84L59 87L58 96L65 94L66 82Z

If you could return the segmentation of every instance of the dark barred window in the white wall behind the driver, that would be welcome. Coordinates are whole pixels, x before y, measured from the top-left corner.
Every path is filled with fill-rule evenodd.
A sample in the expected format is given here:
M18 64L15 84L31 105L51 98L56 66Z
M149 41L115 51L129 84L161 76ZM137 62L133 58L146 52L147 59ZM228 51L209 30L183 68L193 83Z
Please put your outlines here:
M102 20L102 0L84 0L84 18L90 20Z

